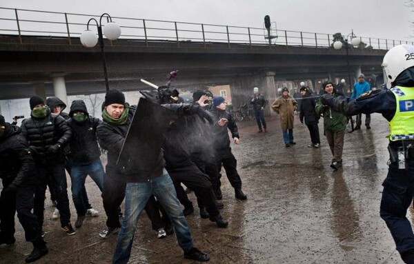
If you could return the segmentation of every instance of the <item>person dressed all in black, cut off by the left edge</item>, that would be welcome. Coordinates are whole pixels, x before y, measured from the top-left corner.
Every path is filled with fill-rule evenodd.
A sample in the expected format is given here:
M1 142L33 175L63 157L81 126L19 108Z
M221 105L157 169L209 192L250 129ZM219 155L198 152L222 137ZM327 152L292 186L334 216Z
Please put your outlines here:
M3 190L0 195L0 245L14 244L14 214L26 235L26 241L33 243L32 253L26 262L48 254L46 243L41 237L41 227L32 214L34 186L37 182L34 161L28 141L21 134L21 128L10 125L0 115L0 178Z

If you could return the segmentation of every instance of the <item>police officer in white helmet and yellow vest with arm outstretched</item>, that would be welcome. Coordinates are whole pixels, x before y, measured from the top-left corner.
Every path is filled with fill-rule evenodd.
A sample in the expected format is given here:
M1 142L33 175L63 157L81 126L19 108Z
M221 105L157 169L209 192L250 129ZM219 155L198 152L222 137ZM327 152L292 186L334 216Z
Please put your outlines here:
M324 95L324 103L347 115L379 112L389 122L388 174L382 185L380 215L405 263L414 263L414 234L406 218L414 196L414 46L397 45L384 56L384 78L390 90L375 90L349 99Z

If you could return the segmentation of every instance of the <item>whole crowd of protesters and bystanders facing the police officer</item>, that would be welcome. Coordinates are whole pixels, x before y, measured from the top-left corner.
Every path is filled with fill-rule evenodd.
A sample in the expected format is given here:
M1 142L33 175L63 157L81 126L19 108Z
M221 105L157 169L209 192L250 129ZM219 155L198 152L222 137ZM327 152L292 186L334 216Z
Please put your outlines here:
M169 81L170 83L170 81ZM323 94L344 97L340 91L344 83L331 81L322 84L320 94L302 86L295 98L287 88L282 89L271 108L279 114L283 140L286 147L295 145L293 123L296 110L301 123L305 123L311 143L308 148L319 148L319 119L324 119L324 135L333 154L331 167L342 165L342 149L346 116L322 101ZM371 90L359 75L351 98ZM188 198L183 184L197 197L201 219L209 219L219 228L229 225L221 216L221 167L224 167L235 198L246 200L242 191L242 178L237 172L237 160L231 151L233 143L239 144L239 133L232 114L226 111L223 97L213 97L209 91L193 93L193 103L182 103L179 92L169 85L158 88L156 94L142 93L144 98L172 112L168 129L162 134L162 143L151 163L140 161L119 163L128 130L137 111L129 105L119 90L108 90L102 104L102 120L90 116L82 100L72 101L69 113L66 104L57 97L45 101L30 97L30 118L21 127L16 122L6 123L0 116L0 155L3 190L0 196L0 245L11 245L14 239L14 214L26 234L26 241L33 244L26 262L36 261L48 254L43 240L43 211L46 190L55 205L52 219L60 219L67 235L76 234L86 216L98 216L92 208L85 188L89 175L101 192L106 213L106 227L99 233L107 238L118 233L113 263L127 263L130 258L137 221L142 210L151 221L157 238L176 234L184 257L208 261L208 254L195 247L184 216L193 214L193 201ZM298 95L299 94L299 95ZM301 98L299 98L301 97ZM267 132L264 119L266 100L258 88L253 89L251 104L255 110L258 132ZM300 103L298 103L300 101ZM359 114L359 123L361 117ZM366 118L369 127L369 115ZM137 135L136 135L137 136ZM101 150L106 150L108 163L101 163ZM8 164L6 166L5 164ZM70 206L66 172L70 176L72 201L77 212L75 228L70 223ZM124 212L121 209L125 201Z

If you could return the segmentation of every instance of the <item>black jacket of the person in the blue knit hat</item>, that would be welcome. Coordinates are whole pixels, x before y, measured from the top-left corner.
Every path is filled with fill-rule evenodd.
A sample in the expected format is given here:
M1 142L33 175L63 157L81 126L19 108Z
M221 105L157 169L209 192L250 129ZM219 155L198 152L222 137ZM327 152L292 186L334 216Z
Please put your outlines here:
M219 110L213 108L210 110L213 114L213 145L215 150L224 150L230 148L230 138L228 137L228 130L231 132L231 136L234 139L235 137L239 138L239 131L237 129L236 121L233 119L231 114L226 110ZM218 121L220 119L227 119L227 125L220 126ZM228 129L228 130L227 130Z

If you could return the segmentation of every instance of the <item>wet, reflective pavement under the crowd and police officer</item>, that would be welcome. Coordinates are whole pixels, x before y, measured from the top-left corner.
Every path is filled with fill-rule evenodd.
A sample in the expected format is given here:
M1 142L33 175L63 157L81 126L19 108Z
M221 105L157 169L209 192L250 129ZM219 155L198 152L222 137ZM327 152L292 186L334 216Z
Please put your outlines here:
M364 116L363 116L364 119ZM387 172L388 124L371 117L371 130L346 133L343 167L330 167L331 151L321 131L321 148L307 148L306 125L295 116L296 145L286 148L277 117L267 118L268 133L257 133L255 121L238 123L238 161L248 200L235 199L222 179L226 229L200 219L196 207L187 216L195 245L210 254L209 263L402 263L386 225L380 219L382 181ZM70 185L70 180L68 180ZM100 214L87 218L75 236L66 236L47 199L43 230L49 254L35 263L110 263L116 236L99 238L105 226L99 189L89 178L86 189ZM70 190L68 190L70 194ZM71 195L71 194L70 194ZM72 225L76 211L70 199ZM413 208L408 212L413 220ZM24 241L17 220L16 243L0 247L0 263L24 263L32 244ZM138 223L130 263L196 263L184 259L175 236L157 239L145 213Z

